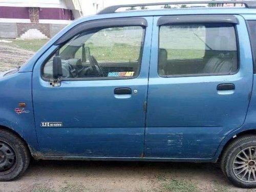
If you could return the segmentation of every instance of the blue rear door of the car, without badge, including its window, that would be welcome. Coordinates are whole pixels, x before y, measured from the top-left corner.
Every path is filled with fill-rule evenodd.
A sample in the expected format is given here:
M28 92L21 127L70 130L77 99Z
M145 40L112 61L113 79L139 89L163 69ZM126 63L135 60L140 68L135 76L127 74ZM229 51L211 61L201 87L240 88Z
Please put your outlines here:
M243 125L252 88L245 21L237 15L154 17L146 158L212 158Z

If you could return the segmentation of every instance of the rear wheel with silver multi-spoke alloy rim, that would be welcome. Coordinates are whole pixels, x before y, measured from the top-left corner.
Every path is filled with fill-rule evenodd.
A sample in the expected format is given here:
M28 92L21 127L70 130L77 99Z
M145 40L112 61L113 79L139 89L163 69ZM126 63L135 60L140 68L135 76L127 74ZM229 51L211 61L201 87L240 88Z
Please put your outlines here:
M243 188L256 187L256 180L252 174L256 172L254 152L256 154L256 135L252 134L236 138L225 148L220 162L221 169L232 184ZM244 153L252 155L245 156ZM243 159L240 159L241 157Z

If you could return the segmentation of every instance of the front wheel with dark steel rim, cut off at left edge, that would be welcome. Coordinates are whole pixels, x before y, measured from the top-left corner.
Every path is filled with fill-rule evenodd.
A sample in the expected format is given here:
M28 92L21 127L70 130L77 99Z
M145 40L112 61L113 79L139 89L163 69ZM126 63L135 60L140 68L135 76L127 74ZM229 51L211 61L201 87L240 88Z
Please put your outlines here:
M26 144L7 130L0 130L0 156L0 181L17 179L29 166Z

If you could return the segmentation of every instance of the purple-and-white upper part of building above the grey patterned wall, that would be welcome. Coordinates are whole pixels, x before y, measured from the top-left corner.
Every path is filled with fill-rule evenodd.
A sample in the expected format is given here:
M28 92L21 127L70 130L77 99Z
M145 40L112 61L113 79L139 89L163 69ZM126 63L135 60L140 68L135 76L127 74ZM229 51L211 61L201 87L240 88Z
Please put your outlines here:
M68 24L80 16L78 0L0 1L0 22Z

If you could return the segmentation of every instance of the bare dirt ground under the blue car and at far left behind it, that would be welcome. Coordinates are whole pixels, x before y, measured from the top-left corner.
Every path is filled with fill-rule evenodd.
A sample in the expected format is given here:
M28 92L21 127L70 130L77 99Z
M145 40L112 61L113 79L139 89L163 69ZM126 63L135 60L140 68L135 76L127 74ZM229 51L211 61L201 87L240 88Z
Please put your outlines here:
M0 71L22 65L33 54L33 51L20 47L0 44ZM232 186L221 170L210 163L32 161L20 179L0 182L0 191L256 190Z

